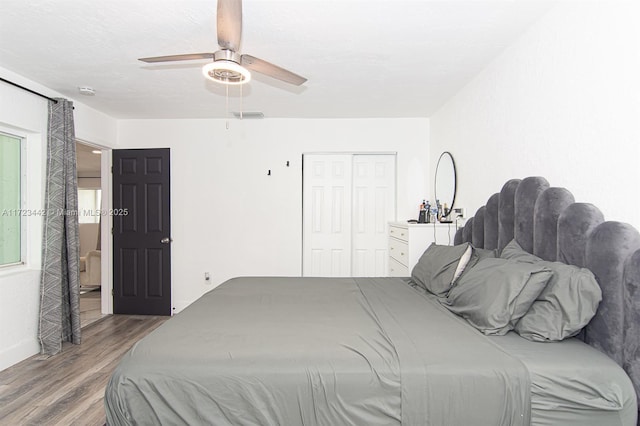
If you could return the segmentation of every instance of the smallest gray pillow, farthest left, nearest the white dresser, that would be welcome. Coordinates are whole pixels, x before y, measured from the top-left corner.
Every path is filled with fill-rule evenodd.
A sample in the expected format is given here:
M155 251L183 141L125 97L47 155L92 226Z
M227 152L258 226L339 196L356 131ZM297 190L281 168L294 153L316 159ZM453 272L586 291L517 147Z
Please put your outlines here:
M441 246L433 243L413 267L411 279L425 290L444 297L464 269L465 259L466 261L470 259L470 250L472 249L469 243L457 246ZM467 256L464 256L465 253ZM464 264L461 264L461 259Z

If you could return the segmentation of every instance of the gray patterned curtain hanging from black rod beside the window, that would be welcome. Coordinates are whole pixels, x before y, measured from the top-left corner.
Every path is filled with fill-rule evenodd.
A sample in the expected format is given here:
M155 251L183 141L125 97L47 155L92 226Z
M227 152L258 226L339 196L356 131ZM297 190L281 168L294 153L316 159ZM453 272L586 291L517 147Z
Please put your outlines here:
M49 102L39 339L55 355L62 342L80 344L78 181L73 103Z

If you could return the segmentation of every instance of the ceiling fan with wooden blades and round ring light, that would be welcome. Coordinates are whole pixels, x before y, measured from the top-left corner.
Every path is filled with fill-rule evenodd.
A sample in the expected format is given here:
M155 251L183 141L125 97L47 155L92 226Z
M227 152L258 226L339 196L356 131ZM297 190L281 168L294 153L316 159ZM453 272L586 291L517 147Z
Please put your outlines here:
M218 0L217 30L220 50L214 53L187 53L183 55L140 58L139 60L155 63L213 59L213 62L202 68L202 73L206 78L223 84L244 84L249 82L251 73L248 69L296 86L300 86L307 81L306 78L270 62L255 56L238 53L242 33L242 0Z

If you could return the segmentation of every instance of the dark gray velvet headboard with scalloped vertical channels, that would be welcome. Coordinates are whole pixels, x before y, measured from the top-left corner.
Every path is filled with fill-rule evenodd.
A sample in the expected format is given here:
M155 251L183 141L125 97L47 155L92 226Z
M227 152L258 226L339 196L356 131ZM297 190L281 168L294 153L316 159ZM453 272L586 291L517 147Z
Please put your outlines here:
M602 302L580 338L620 364L640 395L640 233L605 222L597 207L576 203L566 189L528 177L493 194L457 231L455 244L502 250L513 238L542 259L593 272Z

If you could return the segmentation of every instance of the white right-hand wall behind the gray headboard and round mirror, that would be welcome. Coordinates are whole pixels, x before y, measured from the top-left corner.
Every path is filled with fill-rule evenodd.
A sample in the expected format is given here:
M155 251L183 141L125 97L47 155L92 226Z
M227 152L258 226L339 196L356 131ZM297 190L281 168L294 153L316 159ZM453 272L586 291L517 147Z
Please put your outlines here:
M431 117L468 215L536 175L640 228L638 16L637 1L560 4Z

